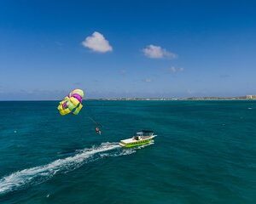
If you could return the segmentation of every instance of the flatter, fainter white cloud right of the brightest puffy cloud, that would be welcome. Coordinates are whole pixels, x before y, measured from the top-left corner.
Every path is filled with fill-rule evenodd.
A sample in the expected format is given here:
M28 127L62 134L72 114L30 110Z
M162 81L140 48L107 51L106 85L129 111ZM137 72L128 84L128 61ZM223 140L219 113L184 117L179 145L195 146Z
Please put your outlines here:
M154 59L174 59L177 58L177 54L171 53L167 51L165 48L161 48L160 46L148 45L146 48L143 48L143 54L145 54L148 58Z

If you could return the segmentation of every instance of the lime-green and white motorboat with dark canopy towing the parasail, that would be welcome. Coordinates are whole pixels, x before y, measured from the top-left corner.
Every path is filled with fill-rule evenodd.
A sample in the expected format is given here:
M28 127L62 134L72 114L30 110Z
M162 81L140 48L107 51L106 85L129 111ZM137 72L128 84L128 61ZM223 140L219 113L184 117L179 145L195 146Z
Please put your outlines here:
M142 130L140 132L137 132L135 136L133 136L131 139L123 139L119 142L119 145L122 147L134 147L138 145L144 145L149 144L151 142L154 142L154 137L157 135L154 134L151 130Z

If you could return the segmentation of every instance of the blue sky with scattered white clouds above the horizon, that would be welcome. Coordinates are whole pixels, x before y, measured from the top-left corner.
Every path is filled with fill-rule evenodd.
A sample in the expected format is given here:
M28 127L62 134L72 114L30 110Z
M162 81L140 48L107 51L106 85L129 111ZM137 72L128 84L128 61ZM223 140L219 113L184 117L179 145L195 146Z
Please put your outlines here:
M255 1L0 1L0 100L256 94Z

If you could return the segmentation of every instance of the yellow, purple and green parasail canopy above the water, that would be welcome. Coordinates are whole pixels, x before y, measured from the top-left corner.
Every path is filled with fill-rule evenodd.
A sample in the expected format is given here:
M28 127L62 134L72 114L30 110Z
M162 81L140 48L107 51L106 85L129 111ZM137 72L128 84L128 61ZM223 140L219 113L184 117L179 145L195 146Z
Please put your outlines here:
M78 115L79 111L83 108L82 99L84 97L84 92L81 89L74 89L70 94L68 94L65 99L60 102L58 110L62 116L68 113L73 113Z

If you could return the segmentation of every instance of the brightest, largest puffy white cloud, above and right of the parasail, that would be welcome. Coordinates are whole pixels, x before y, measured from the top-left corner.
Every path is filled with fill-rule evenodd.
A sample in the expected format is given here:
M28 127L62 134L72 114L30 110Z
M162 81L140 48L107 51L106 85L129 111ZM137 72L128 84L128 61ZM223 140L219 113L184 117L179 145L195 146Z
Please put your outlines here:
M108 40L97 31L92 33L90 37L86 37L82 45L98 53L107 53L113 50Z

